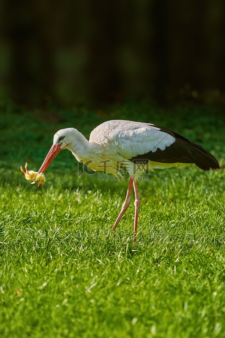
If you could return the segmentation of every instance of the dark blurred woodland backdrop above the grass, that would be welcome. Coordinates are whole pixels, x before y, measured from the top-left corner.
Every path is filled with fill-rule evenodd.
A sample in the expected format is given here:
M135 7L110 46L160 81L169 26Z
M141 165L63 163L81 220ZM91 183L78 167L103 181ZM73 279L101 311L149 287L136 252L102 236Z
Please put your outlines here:
M1 0L0 98L225 103L224 0Z

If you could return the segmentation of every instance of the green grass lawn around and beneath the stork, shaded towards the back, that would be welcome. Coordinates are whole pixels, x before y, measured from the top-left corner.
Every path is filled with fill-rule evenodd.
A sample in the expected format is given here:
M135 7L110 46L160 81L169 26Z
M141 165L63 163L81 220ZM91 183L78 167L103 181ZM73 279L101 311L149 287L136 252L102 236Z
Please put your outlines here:
M179 123L177 132L224 164L223 117L205 107L159 112L147 103L111 107L111 114L17 109L2 107L0 121L0 337L225 337L224 170L192 165L140 181L133 245L133 195L111 232L128 176L78 176L68 151L47 169L43 187L19 169L42 164L54 134L45 122L88 137L113 118Z

